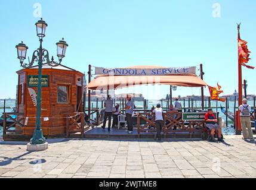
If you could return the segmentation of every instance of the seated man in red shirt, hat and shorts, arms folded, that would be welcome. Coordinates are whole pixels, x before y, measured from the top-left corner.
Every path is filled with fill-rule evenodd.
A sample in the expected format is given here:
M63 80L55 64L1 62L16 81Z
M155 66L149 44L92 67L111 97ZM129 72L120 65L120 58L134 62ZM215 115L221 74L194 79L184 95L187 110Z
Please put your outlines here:
M214 113L212 112L212 109L209 108L208 112L205 114L205 121L206 121L206 127L208 127L211 131L211 140L212 142L215 142L214 135L215 133L218 133L218 141L223 142L222 139L222 131L221 128L218 126L218 119L215 118Z

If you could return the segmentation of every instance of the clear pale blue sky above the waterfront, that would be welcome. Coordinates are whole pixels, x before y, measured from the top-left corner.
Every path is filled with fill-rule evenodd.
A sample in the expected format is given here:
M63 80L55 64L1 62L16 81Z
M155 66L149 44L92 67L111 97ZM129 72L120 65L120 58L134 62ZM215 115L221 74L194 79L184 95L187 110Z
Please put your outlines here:
M218 82L224 94L230 94L238 88L238 22L241 38L252 52L250 65L256 66L255 1L0 1L1 99L16 95L16 71L21 69L17 43L23 40L29 46L30 57L39 45L34 25L39 18L33 15L36 3L42 5L48 23L44 47L55 56L55 43L64 37L69 48L63 64L81 72L88 71L88 64L113 68L203 63L206 83ZM212 16L215 3L221 6L221 17ZM243 68L250 94L256 94L255 71ZM169 87L159 87L157 94L152 93L153 87L127 90L158 99L166 96ZM174 96L191 94L199 95L199 88L179 87L174 92Z

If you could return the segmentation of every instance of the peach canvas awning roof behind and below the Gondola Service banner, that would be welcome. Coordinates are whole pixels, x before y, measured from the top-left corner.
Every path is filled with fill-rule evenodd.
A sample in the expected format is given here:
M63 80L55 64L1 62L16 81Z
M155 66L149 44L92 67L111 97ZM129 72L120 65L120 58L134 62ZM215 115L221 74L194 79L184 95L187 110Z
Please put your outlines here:
M163 66L132 66L129 69L166 68ZM196 74L176 75L98 75L87 85L89 90L113 90L135 85L177 85L182 87L204 87L205 83Z

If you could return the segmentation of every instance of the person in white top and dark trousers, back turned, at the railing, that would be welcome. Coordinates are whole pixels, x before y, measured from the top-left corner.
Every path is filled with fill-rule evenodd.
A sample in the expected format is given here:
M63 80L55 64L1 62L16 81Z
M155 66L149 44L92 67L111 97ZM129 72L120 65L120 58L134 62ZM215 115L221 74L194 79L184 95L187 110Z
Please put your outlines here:
M156 124L155 140L156 138L158 138L158 140L161 141L161 131L162 131L162 128L164 127L164 116L163 116L164 112L160 104L156 106L156 109L153 110L153 113L155 113L155 124Z

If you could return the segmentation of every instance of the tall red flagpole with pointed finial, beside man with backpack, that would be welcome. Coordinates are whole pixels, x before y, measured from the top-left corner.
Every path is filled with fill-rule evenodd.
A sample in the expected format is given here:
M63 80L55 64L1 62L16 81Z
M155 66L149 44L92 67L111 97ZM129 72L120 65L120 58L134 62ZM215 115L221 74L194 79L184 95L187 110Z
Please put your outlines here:
M238 43L240 39L240 24L238 24ZM239 61L239 46L238 46L238 107L242 105L242 65L240 64ZM237 113L238 116L238 126L236 126L236 135L241 134L241 124L240 124L240 113L238 110Z

